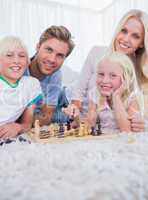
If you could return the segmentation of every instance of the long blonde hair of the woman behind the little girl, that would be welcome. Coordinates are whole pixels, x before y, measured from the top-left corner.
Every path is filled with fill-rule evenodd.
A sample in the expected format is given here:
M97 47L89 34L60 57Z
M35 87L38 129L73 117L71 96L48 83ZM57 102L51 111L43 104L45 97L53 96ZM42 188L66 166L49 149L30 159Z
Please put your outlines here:
M112 51L115 51L115 46L114 46L115 38L116 38L117 34L121 31L125 22L131 17L136 17L137 19L139 19L144 27L144 47L137 49L135 52L137 78L138 78L138 81L140 82L140 84L142 84L142 83L148 82L148 41L147 41L147 38L148 38L148 15L141 10L135 10L135 9L127 12L122 17L122 19L120 20L120 22L116 28L114 37L111 42L110 49Z

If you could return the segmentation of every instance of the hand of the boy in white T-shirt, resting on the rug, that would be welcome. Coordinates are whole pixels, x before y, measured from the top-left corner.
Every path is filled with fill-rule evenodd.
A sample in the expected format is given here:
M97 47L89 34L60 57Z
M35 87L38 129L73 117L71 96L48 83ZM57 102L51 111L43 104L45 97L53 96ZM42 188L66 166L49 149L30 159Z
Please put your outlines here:
M9 123L0 126L0 139L16 137L21 131L21 124Z

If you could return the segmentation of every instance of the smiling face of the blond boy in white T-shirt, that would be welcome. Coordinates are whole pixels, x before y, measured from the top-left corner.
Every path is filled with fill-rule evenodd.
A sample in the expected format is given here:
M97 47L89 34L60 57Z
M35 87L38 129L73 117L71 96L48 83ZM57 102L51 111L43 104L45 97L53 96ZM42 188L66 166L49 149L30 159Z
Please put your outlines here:
M0 55L0 74L10 83L16 83L24 74L28 56L24 49L14 48Z

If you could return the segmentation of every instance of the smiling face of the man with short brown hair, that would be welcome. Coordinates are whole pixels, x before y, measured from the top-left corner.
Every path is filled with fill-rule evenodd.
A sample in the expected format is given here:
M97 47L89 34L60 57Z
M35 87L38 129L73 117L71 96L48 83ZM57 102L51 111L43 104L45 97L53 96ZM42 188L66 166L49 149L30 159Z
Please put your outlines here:
M42 75L51 75L63 64L69 46L66 42L50 38L37 46L37 63Z

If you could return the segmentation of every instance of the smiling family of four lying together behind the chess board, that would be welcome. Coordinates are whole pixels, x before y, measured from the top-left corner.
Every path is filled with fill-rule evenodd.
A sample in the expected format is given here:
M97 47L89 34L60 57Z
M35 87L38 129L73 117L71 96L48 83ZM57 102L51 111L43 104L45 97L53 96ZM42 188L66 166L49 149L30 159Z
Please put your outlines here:
M101 131L141 132L148 127L148 15L130 10L109 47L95 46L68 102L60 68L74 49L64 26L51 26L30 59L14 36L0 40L0 139L40 125L80 117ZM64 109L63 109L64 108Z

